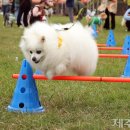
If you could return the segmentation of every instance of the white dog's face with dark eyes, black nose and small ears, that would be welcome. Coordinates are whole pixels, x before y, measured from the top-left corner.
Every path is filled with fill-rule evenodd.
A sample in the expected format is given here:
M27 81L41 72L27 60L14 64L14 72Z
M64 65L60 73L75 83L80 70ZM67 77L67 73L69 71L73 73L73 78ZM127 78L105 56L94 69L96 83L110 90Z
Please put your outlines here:
M27 60L34 64L38 64L42 62L45 58L45 52L44 52L44 42L45 38L44 36L39 37L38 39L36 36L26 37L23 36L21 38L21 44L20 47L22 49L22 52Z

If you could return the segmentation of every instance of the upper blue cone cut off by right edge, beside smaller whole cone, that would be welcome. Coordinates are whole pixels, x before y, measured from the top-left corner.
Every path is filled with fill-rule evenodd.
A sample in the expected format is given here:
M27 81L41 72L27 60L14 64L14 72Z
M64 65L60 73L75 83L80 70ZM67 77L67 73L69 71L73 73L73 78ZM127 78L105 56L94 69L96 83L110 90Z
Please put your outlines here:
M130 55L130 36L126 36L125 38L122 54Z

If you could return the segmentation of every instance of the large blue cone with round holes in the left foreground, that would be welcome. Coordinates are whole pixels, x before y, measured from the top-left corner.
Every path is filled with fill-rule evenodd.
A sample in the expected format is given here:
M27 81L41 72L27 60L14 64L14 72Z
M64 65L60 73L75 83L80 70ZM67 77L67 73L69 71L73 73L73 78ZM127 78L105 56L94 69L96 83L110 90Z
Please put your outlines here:
M30 64L23 60L19 78L8 111L14 112L43 112L38 97L33 71Z

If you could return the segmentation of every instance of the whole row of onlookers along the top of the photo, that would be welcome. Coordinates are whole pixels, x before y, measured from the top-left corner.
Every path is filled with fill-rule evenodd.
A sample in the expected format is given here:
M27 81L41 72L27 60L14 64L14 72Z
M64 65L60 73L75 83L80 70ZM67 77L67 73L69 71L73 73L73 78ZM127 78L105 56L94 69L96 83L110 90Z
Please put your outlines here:
M0 6L2 7L3 17L5 17L7 12L12 12L15 15L18 27L27 27L35 21L47 21L45 17L47 12L45 10L53 8L55 3L59 1L65 2L70 22L73 23L75 20L78 20L74 17L75 0L2 0ZM106 30L115 29L117 0L101 0L100 5L95 9L96 13L93 15L87 8L87 4L91 0L80 0L80 2L84 4L83 9L86 10L85 16L88 26L96 24ZM122 25L126 26L127 31L130 31L130 0L123 0L123 2L127 2L128 6L123 16Z

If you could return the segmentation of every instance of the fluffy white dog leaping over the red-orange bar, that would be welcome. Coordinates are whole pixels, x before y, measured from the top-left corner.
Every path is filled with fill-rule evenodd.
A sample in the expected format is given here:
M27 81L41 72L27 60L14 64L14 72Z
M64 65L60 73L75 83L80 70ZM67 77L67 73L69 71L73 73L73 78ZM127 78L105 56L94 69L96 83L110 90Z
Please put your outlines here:
M91 33L80 23L56 31L53 25L36 22L25 29L20 48L31 66L55 75L92 75L98 61L98 48Z

